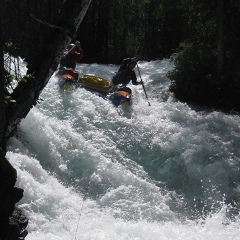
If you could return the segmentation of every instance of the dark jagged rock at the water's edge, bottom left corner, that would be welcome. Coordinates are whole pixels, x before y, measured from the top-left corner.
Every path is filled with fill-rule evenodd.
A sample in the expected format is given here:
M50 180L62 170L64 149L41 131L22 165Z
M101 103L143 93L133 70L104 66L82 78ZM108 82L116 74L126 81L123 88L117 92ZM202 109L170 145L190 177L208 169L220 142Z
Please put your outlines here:
M16 170L0 155L0 240L20 240L27 236L28 220L15 204L23 197L23 189L14 187Z

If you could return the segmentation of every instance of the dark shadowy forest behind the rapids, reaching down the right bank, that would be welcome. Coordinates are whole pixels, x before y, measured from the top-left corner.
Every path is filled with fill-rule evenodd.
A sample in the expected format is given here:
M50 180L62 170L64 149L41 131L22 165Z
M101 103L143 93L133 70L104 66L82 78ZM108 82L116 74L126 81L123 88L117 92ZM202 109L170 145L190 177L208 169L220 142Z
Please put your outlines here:
M50 24L64 2L12 1ZM73 41L81 41L86 63L178 53L168 77L179 100L238 111L239 26L238 0L93 0Z

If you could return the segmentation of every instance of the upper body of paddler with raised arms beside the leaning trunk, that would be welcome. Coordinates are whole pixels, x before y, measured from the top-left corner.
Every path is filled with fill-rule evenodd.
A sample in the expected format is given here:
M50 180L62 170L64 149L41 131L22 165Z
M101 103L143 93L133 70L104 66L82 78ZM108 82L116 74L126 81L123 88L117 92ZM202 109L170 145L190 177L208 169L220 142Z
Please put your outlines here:
M60 60L60 69L62 68L75 69L77 62L81 60L83 56L84 53L79 41L76 41L75 44L73 43L69 44Z

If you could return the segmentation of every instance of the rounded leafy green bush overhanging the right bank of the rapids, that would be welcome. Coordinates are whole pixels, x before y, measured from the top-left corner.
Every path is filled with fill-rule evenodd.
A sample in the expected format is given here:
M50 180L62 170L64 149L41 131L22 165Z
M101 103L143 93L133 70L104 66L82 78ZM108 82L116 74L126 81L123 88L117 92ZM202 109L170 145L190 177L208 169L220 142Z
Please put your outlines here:
M207 102L217 83L216 52L211 46L183 43L168 73L170 89L183 101Z

